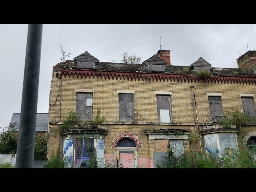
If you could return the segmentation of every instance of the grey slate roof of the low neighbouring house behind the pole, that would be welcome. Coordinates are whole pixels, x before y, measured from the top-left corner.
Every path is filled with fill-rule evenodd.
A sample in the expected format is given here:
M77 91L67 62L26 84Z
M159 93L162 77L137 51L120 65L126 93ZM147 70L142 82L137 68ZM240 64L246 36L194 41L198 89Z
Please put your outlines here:
M14 125L14 128L16 128L16 131L19 131L20 113L12 114L12 119L11 119L9 128L11 127L11 124ZM47 130L48 130L48 113L38 113L36 115L36 132L38 131L47 132Z

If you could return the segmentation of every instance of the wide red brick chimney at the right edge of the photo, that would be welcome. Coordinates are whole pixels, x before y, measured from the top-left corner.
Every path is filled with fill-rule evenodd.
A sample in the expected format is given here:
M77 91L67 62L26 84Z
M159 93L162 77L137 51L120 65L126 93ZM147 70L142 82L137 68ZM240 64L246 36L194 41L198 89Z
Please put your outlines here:
M256 64L256 51L248 51L237 59L238 68L250 69Z

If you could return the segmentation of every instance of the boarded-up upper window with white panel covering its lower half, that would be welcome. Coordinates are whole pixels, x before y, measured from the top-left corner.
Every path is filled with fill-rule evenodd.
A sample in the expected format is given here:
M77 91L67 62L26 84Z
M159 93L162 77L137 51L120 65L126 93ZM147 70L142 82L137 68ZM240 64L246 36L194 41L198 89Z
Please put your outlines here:
M171 97L170 95L156 95L158 122L172 122Z

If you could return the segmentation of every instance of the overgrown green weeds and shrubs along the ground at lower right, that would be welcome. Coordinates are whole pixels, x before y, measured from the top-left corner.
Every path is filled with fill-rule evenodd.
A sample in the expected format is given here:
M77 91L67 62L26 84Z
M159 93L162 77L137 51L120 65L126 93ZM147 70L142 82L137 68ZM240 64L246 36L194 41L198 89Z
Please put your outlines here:
M237 147L227 144L220 154L204 154L189 151L176 157L168 149L158 168L256 168L256 146L249 149L238 140Z

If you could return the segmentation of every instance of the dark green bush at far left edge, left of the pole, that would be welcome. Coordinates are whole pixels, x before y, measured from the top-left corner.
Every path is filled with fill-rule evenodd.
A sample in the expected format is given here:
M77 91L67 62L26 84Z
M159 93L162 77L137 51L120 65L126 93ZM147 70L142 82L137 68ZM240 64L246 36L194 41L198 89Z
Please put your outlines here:
M0 154L16 154L18 139L14 126L0 132Z

